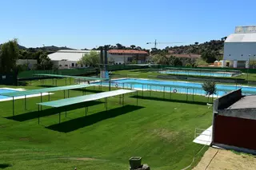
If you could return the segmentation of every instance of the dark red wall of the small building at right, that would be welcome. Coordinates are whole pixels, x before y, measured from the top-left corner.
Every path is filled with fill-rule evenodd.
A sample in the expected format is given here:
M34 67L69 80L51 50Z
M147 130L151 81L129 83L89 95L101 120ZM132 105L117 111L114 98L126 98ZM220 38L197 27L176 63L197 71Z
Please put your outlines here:
M216 116L214 143L256 150L256 121L238 117Z

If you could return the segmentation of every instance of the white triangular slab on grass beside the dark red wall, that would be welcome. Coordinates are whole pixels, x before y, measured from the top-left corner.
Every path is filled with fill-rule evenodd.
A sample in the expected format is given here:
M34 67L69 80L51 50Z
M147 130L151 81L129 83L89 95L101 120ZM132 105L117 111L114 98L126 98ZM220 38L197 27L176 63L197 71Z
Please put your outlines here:
M203 131L199 136L197 136L193 142L197 144L204 144L204 145L210 145L211 143L211 136L212 136L213 126L211 125L209 128L207 128L205 131Z

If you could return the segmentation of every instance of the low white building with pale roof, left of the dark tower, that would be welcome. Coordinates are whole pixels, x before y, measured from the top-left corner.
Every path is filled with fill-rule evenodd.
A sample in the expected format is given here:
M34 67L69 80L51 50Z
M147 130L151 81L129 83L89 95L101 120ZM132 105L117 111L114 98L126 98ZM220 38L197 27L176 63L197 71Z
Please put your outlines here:
M97 50L96 52L100 53ZM78 65L78 61L85 53L90 53L90 50L58 50L56 53L50 53L48 57L58 69L72 69L85 66Z

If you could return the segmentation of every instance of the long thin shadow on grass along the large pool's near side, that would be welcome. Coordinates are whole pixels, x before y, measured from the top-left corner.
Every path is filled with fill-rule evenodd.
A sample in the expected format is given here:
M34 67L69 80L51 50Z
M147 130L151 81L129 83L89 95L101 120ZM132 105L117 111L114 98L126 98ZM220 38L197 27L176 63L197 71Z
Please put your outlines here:
M132 97L137 98L137 96L132 96ZM207 104L207 102L203 102L203 101L184 101L184 100L167 99L167 98L161 98L161 97L142 97L142 96L138 96L138 99L146 99L146 100L152 100L152 101L170 101L170 102L195 104L195 105L206 105Z

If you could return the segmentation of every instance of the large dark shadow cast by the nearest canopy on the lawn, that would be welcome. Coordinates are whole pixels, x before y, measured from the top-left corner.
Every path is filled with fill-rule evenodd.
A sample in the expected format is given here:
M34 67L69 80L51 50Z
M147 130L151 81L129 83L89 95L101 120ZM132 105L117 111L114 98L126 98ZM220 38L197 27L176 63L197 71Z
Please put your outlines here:
M62 122L61 124L50 125L49 128L58 132L72 132L78 128L83 128L89 125L93 125L99 121L110 119L113 117L118 117L122 114L130 113L134 110L142 109L142 106L135 105L125 105L121 108L110 109L108 111L102 111L100 113L94 113L87 117L78 117L76 119Z

